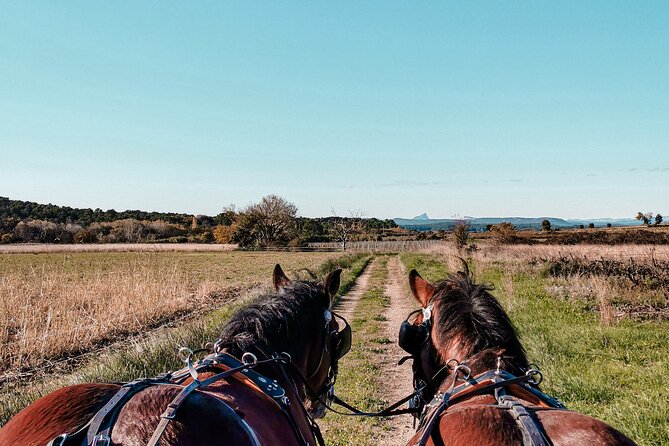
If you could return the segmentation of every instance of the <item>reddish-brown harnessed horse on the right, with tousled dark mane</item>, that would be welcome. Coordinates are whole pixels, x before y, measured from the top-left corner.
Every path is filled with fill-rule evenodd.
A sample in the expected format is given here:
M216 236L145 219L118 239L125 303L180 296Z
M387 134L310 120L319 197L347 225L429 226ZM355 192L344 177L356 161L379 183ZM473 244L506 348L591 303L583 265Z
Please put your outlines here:
M421 308L399 336L413 359L409 405L419 421L408 445L634 445L541 392L541 372L528 362L492 286L475 283L464 269L434 284L416 270L409 274Z

